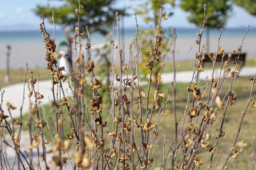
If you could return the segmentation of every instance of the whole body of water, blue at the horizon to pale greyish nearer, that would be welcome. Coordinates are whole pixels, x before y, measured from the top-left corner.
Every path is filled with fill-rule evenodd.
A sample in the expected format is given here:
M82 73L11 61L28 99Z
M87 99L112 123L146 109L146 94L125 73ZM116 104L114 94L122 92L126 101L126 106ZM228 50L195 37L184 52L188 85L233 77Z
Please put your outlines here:
M144 30L143 28L139 28L139 30ZM163 28L165 32L165 36L172 41L172 31L168 28ZM200 31L200 28L177 28L177 42L175 48L175 57L177 60L182 60L186 57L189 48L192 47L192 50L188 53L188 60L193 60L195 58L195 53L198 52L198 45L195 43L196 33ZM109 30L111 33L112 31ZM239 45L241 45L241 38L244 36L244 32L246 32L246 27L244 28L232 28L232 29L223 29L223 33L220 39L220 45L225 49L225 52L232 52L236 50ZM53 38L53 31L50 30L49 34L51 38ZM71 32L71 36L74 32ZM205 44L205 34L202 37L202 44ZM210 31L210 50L211 52L216 52L216 46L218 41L218 36L220 35L220 30L212 29ZM124 38L125 46L125 61L127 61L129 55L129 46L132 44L132 52L135 52L134 48L134 36L135 29L125 29L120 31L121 41ZM102 46L107 43L111 36L102 36L98 32L95 32L90 35L91 37L91 45L92 48L99 48L102 50ZM58 46L61 41L65 41L65 32L63 30L55 31L55 41ZM87 43L86 36L82 38L83 50L84 46ZM248 32L246 38L244 39L243 52L247 53L247 57L255 57L256 56L256 28L251 28ZM115 44L118 45L117 41L117 33L115 31ZM0 69L4 69L6 65L6 52L4 48L6 45L12 46L12 52L10 55L10 66L12 68L17 67L25 67L28 62L29 67L46 67L47 62L44 60L45 57L45 44L44 38L42 38L42 34L40 30L37 31L0 31ZM170 45L171 48L171 45ZM117 51L117 50L116 50ZM92 50L93 52L93 50ZM84 50L86 54L86 50ZM78 54L78 52L77 52ZM96 52L92 53L93 60L97 62L99 57L95 56ZM73 50L73 55L75 55ZM116 59L118 59L118 53L115 53ZM133 55L132 55L133 56ZM149 55L148 55L149 56ZM74 56L73 56L74 57ZM111 54L109 54L109 59ZM172 56L170 53L166 54L166 60L172 60ZM118 61L118 60L116 60Z

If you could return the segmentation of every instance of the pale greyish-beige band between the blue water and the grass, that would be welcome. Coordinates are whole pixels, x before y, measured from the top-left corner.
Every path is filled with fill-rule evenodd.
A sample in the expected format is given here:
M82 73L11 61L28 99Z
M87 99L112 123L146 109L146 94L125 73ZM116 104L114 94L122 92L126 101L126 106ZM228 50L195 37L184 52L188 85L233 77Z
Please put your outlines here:
M131 44L131 39L126 41L125 49L129 49ZM93 45L97 45L104 42L92 42ZM203 43L205 43L203 41ZM256 38L246 37L244 39L243 52L247 53L247 57L256 56L255 49ZM12 68L25 67L28 62L29 67L46 67L47 62L44 60L44 43L40 41L35 42L15 42L12 43L12 54L10 64ZM57 43L58 45L58 43ZM83 41L83 46L86 45L86 41ZM216 52L217 38L211 39L210 41L210 49L212 52ZM232 52L241 45L241 38L222 38L220 40L220 45L225 49L225 52ZM6 65L6 54L4 52L3 47L6 46L3 42L0 42L0 69L4 69ZM198 45L195 43L195 39L193 38L179 38L177 37L177 45L176 45L176 59L182 60L186 54L188 53L189 48L192 47L192 50L189 52L187 60L193 60L195 58L195 53L198 52ZM128 57L128 51L125 51L126 57ZM117 53L116 53L117 54ZM111 57L109 55L109 57ZM115 55L116 59L117 56ZM95 59L97 60L97 59ZM166 60L172 60L172 56L170 54L166 55Z

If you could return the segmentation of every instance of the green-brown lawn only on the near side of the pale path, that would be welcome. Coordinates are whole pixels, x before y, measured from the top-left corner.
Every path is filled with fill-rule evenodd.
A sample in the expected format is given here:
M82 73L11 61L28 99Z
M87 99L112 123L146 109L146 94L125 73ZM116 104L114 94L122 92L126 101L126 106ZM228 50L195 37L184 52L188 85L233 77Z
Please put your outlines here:
M186 99L187 99L187 95L188 95L188 92L186 92L186 87L188 87L188 85L189 85L189 83L177 83L177 94L179 94L177 96L177 118L178 118L179 123L180 123L180 119L184 113L184 107L186 106ZM229 85L230 85L230 79L228 79L225 82L225 86L223 87L221 96L223 96L225 94L225 92L227 92ZM220 164L218 164L216 169L220 169L221 165L223 164L223 161L225 160L228 152L230 151L230 148L234 141L234 137L236 136L239 122L241 120L241 111L244 110L247 100L248 100L251 85L252 85L252 82L250 82L250 78L238 77L234 83L233 90L237 94L237 100L234 101L233 106L228 106L227 115L225 118L225 124L223 126L223 131L225 131L225 136L223 138L220 138L219 146L216 149L216 153L214 155L214 160L216 160L220 153ZM164 89L166 89L167 87L168 87L168 85L164 84L161 87L162 91L164 91ZM200 87L202 87L202 83L200 83ZM146 90L147 87L143 87L143 89ZM202 90L202 93L203 92L204 92L204 90ZM136 93L137 92L135 92L135 94L134 94L135 96L136 96ZM253 92L253 97L255 97L255 95L256 95L256 93ZM90 96L90 95L88 95L88 96ZM156 138L156 141L154 143L154 147L152 150L152 157L155 160L155 163L151 167L152 169L154 169L153 167L161 166L161 163L163 162L164 136L166 136L166 143L172 143L173 138L174 138L173 137L174 136L174 121L173 121L173 114L172 114L172 89L170 90L170 96L171 96L170 102L167 104L166 109L171 110L171 114L167 115L166 117L162 117L159 121L159 126L158 126L159 135ZM106 96L104 96L104 97L105 97L104 101L108 101ZM145 103L143 103L143 105L145 106ZM102 104L104 120L107 120L109 110L106 109L105 106L106 106L106 103ZM45 110L46 118L49 123L49 127L51 127L52 134L55 134L56 130L55 130L54 123L53 123L52 117L51 117L51 108L50 108L49 104L45 104L45 106L43 106L43 107ZM136 108L136 106L134 108ZM220 121L222 118L223 111L224 111L223 109L218 111L218 118L216 118L216 122L212 126L211 133L214 133L215 129L218 128L218 125L220 124ZM60 117L63 116L63 118L64 118L64 124L65 124L64 129L63 129L64 136L66 136L67 134L70 134L70 131L72 129L72 125L70 125L69 117L67 114L68 114L67 109L65 109L65 107L63 107L63 115L60 115ZM202 117L202 114L203 113L201 113L200 118ZM28 121L28 114L24 115L23 118L24 118L25 122ZM54 115L54 118L56 118L56 115ZM188 118L188 117L186 117L186 118ZM145 119L145 115L143 115L143 119ZM154 120L156 120L156 117L154 117ZM238 138L238 141L242 141L242 140L248 138L247 146L244 147L243 152L241 153L241 155L239 155L237 160L234 162L231 169L247 169L250 164L250 160L251 160L252 154L253 154L252 138L253 138L253 136L256 135L255 120L256 120L255 108L252 108L251 106L249 106L248 111L246 112L246 116L244 118L243 125L242 125L243 132L241 134L239 134L239 138ZM195 121L195 118L193 121ZM109 124L111 125L111 120L109 121ZM185 126L186 126L186 123L185 123ZM47 134L47 138L50 138L47 127L44 127L44 134ZM214 137L212 137L212 140L213 140L212 144L214 143L215 138L216 138L216 132L214 133ZM106 143L108 145L108 139L106 139ZM238 148L239 147L236 146L236 149L238 149ZM165 152L167 153L167 151L168 151L168 146L166 145ZM209 153L208 151L204 151L200 154L199 158L204 162L202 169L207 169L210 157L211 157L211 153ZM230 159L230 160L232 160L232 159ZM215 162L214 162L214 164L215 164Z

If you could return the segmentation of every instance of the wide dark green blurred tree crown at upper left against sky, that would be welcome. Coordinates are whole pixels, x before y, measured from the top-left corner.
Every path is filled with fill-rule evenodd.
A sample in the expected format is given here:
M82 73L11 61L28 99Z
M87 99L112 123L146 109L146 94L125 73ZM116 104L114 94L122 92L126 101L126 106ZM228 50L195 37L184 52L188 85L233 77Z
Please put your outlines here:
M42 6L38 4L35 13L41 16L41 10L44 11L45 17L52 21L52 10L54 10L54 22L60 25L77 25L77 15L74 9L78 8L77 0L62 0L62 6ZM88 26L92 31L99 31L101 34L107 34L107 29L115 20L115 12L124 15L124 10L113 8L115 0L80 0L84 6L80 11L80 26L83 30Z

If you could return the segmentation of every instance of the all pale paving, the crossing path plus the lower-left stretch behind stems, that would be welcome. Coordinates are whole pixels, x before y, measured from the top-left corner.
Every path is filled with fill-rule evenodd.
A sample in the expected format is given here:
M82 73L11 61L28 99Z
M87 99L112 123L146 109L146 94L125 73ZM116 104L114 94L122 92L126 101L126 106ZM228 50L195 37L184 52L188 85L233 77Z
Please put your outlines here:
M220 69L217 69L215 74L215 78L218 77L220 73ZM239 76L253 76L256 73L256 67L244 67L241 72L239 73ZM177 73L177 82L183 82L183 83L189 83L191 81L191 77L192 77L192 72L191 71L182 71ZM211 74L212 71L211 70L205 70L204 72L200 73L200 80L204 81L205 78L208 76L209 78L211 78ZM130 76L131 77L131 76ZM170 83L170 81L173 80L173 73L163 73L162 74L162 81L163 83ZM147 84L147 82L141 82L141 84ZM115 82L115 85L118 85L118 82ZM38 86L36 84L36 91ZM65 82L63 83L63 88L65 89L65 93L67 96L70 96L71 90L68 89L68 83ZM13 104L13 106L17 107L16 110L12 111L12 115L13 117L19 117L20 115L20 105L22 103L22 96L23 96L23 83L18 83L15 85L10 85L8 87L3 87L2 90L4 90L4 97L3 97L3 109L4 111L7 111L7 107L6 107L6 103L10 102ZM68 90L66 90L68 89ZM42 99L42 104L46 104L49 103L49 99L52 99L52 92L51 92L51 80L45 80L45 81L40 81L39 82L39 92L41 94L44 95L44 99ZM24 109L23 109L23 113L28 112L28 107L29 107L29 102L28 102L28 88L27 88L27 83L25 85L25 100L24 100ZM8 141L9 143L11 143L10 141L10 137L7 136L6 137L6 141ZM22 131L22 138L21 138L21 143L20 146L22 146L21 148L28 148L28 132L24 132ZM41 147L41 145L40 145ZM15 152L10 148L10 146L4 146L3 150L8 150L8 158L10 160L10 164L12 165L12 162L15 160ZM49 150L48 146L47 146L47 150ZM23 150L22 150L23 151ZM35 150L34 150L35 151ZM42 154L42 148L40 148L40 154ZM35 162L36 160L36 152L33 154L35 157ZM54 169L54 165L51 162L51 155L48 155L47 157L47 162L48 165L52 167L52 169ZM71 162L68 162L69 164L67 165L67 169L70 169L71 167ZM42 167L44 168L44 164L40 163L42 165ZM17 167L15 166L14 169L17 169Z

